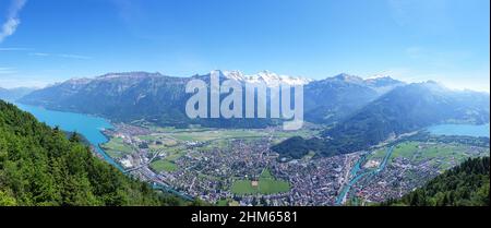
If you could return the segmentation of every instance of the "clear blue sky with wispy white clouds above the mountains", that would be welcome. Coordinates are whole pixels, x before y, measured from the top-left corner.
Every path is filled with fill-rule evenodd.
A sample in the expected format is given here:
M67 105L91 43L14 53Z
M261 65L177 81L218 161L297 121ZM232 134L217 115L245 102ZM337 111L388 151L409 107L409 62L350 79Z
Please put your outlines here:
M489 91L488 0L0 0L0 87L107 72L346 72Z

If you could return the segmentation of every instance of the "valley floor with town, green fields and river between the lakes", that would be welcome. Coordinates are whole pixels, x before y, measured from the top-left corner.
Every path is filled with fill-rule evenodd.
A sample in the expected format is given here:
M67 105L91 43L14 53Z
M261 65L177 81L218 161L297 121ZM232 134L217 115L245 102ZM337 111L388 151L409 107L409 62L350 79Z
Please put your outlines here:
M272 145L319 129L171 129L117 124L101 147L127 172L217 205L366 205L424 184L468 157L489 156L475 139L423 136L333 157L283 160ZM476 141L476 142L475 142Z

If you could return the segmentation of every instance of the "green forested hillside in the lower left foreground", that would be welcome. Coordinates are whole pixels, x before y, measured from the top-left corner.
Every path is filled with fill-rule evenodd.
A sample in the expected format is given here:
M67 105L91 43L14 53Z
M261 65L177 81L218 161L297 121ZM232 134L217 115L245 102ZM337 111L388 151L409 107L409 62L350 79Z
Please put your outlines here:
M0 100L0 206L187 204L124 176L80 141Z

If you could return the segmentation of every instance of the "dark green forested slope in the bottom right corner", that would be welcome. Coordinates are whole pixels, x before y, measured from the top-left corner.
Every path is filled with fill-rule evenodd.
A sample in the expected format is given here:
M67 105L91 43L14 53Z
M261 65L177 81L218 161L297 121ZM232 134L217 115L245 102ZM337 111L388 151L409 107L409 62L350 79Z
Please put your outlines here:
M424 187L382 205L387 206L489 206L489 157L468 159Z

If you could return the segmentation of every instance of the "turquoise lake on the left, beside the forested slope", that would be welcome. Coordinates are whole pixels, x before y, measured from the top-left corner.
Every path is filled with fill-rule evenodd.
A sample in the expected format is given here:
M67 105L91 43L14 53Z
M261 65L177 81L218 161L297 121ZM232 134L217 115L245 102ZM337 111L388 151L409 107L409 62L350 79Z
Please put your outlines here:
M109 157L99 146L106 143L108 139L101 133L105 129L112 129L112 124L104 118L93 117L82 113L53 111L41 107L15 104L20 109L32 113L40 122L45 122L50 127L59 127L63 131L77 132L84 135L96 152L100 154L105 160L115 167L122 169L115 160Z

